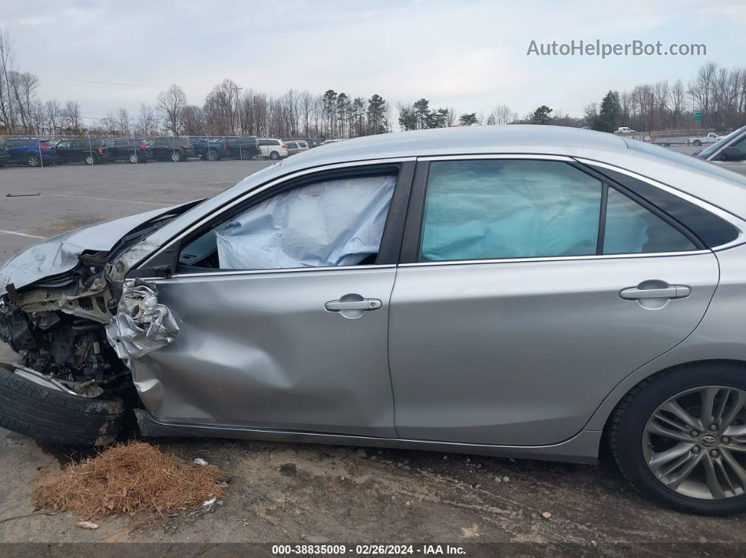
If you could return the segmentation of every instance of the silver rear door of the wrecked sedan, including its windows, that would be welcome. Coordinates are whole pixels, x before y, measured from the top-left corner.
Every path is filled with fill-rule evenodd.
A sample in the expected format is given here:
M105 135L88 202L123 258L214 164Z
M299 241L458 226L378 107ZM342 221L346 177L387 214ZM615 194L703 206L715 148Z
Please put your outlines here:
M390 311L399 437L566 440L703 317L715 256L620 185L557 157L418 165Z

